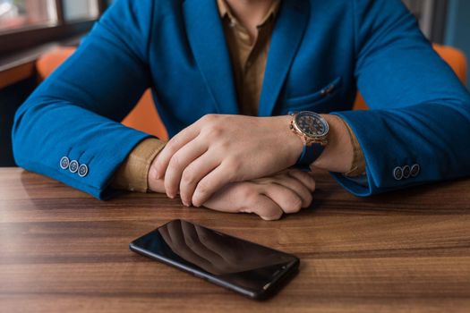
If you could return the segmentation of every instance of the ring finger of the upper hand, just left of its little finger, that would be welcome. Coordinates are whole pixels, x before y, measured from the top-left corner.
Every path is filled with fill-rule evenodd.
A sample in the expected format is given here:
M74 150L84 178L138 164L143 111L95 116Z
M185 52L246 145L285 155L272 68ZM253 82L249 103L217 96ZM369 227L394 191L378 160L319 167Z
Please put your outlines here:
M180 196L185 206L192 204L192 195L201 179L220 165L219 161L206 152L188 165L182 174Z

